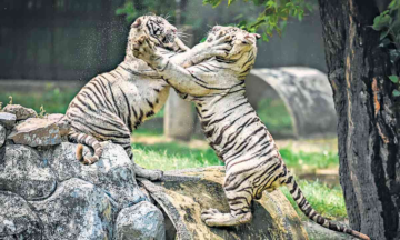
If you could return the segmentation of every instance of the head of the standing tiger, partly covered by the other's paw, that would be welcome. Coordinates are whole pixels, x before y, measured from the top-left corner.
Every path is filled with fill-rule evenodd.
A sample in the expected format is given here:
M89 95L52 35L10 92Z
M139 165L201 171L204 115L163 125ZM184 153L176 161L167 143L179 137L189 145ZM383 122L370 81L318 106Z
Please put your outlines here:
M256 41L260 39L260 36L257 33L250 33L237 27L216 26L210 31L207 41L211 42L218 39L218 37L227 34L232 37L232 49L226 59L239 59L246 52L257 53Z

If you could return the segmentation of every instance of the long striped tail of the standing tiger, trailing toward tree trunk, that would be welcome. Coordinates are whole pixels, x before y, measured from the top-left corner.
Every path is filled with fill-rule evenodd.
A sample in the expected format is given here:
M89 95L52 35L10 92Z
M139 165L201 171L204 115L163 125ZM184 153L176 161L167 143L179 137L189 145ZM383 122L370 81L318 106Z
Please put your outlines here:
M290 191L290 194L293 197L296 203L299 206L301 211L312 221L317 222L318 224L320 224L327 229L330 229L330 230L333 230L337 232L344 232L344 233L348 233L350 236L353 236L353 237L362 239L362 240L370 240L370 238L368 236L366 236L361 232L354 231L352 229L348 229L343 226L338 226L338 224L329 221L328 219L323 218L319 213L317 213L317 211L310 206L310 203L304 198L304 196L301 192L299 186L297 184L293 176L288 177L286 184Z

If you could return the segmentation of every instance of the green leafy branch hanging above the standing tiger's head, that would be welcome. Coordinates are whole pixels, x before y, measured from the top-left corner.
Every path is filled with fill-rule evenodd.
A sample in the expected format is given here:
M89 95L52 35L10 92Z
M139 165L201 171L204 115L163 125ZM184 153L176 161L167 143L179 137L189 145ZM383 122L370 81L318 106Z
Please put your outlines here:
M223 0L203 0L204 4L211 4L213 8L221 4ZM238 0L228 0L228 6ZM238 27L249 32L256 32L259 29L263 31L262 39L269 41L269 38L277 32L279 36L287 24L290 17L301 21L307 11L312 11L313 6L308 0L243 0L251 1L256 6L262 6L263 11L259 14L256 21L247 22L246 20L239 22Z

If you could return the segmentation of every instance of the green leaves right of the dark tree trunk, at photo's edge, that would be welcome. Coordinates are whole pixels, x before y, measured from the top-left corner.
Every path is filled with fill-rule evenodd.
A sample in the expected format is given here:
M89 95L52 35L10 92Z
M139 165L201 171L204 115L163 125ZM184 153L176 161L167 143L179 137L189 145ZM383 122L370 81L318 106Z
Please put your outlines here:
M379 47L389 52L392 73L394 73L388 78L397 86L392 94L400 97L399 72L397 71L400 59L400 0L392 0L388 10L373 19L372 29L381 32Z

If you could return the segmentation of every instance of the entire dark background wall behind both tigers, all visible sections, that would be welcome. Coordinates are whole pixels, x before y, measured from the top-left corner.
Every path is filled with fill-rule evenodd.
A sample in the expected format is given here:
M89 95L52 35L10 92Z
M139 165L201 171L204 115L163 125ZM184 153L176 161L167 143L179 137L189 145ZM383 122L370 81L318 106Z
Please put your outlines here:
M184 23L194 29L194 42L210 27L236 22L244 11L242 3L212 9L201 2L189 1L184 14ZM116 16L123 3L0 0L0 79L89 80L113 69L123 59L129 30L124 18ZM256 10L246 13L257 17ZM307 66L326 71L318 11L302 22L290 20L282 38L259 46L257 68Z

